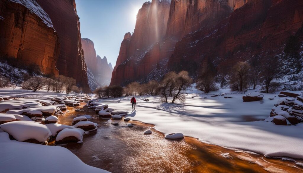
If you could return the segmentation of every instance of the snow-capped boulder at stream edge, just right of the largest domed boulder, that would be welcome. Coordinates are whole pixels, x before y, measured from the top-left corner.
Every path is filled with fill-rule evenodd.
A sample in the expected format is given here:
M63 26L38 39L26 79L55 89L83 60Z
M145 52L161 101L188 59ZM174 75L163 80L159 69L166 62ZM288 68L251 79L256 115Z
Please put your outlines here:
M60 131L56 137L56 144L68 143L68 142L83 142L83 135L85 131L81 128L65 128Z

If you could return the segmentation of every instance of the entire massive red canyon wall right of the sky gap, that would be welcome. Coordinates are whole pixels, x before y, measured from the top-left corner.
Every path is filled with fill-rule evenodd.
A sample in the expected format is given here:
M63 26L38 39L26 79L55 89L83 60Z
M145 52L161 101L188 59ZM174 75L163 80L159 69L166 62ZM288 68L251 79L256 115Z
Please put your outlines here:
M148 16L152 4L161 3L142 6L134 34L126 34L121 44L111 85L145 82L169 70L195 76L204 58L224 75L235 62L281 56L303 21L300 0L171 0L165 35L149 40L153 27L143 28L158 20Z

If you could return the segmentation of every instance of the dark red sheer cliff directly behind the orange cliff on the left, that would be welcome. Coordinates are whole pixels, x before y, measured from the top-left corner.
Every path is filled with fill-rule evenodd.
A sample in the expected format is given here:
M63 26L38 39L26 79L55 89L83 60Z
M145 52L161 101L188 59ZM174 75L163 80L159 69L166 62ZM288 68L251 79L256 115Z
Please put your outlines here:
M77 83L88 91L86 64L75 0L36 1L51 18L59 36L61 47L57 62L59 74L75 78Z

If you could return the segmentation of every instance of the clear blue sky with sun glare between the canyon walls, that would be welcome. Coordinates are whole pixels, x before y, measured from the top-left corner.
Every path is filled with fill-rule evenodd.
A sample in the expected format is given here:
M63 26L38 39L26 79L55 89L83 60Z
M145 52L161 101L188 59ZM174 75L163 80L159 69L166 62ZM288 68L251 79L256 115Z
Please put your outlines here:
M148 0L75 0L82 38L94 42L97 55L113 66L126 32L134 32L135 19Z

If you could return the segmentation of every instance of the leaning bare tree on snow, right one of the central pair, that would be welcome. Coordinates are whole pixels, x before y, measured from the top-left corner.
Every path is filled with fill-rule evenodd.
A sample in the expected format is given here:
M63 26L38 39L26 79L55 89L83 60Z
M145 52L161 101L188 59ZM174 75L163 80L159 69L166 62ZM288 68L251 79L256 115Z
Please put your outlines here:
M188 72L179 72L177 78L175 78L175 91L173 91L173 99L171 103L174 103L175 100L184 102L185 96L183 95L182 91L185 91L186 88L191 86L191 84L192 78L189 77Z

